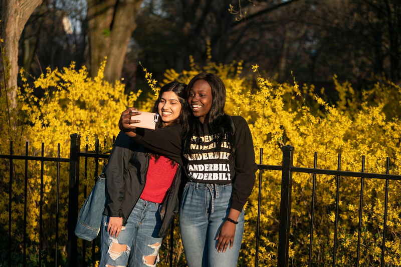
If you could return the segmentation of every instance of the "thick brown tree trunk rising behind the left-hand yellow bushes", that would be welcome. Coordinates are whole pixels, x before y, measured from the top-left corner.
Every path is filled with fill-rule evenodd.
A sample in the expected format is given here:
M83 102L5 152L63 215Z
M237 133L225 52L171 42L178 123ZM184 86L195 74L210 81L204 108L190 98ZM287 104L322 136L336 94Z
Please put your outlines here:
M107 57L104 78L114 82L121 72L142 0L88 0L90 73L97 75Z

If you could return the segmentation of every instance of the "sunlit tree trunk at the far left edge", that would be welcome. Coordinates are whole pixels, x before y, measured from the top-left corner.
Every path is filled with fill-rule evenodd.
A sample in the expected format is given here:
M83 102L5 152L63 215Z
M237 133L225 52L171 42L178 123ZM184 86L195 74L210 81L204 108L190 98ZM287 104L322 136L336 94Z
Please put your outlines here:
M0 10L0 36L4 39L6 56L10 60L10 79L7 83L7 92L12 101L11 107L17 106L17 77L18 77L18 42L25 24L34 10L42 4L42 0L2 0ZM3 64L0 67L3 73ZM4 75L0 78L3 81Z

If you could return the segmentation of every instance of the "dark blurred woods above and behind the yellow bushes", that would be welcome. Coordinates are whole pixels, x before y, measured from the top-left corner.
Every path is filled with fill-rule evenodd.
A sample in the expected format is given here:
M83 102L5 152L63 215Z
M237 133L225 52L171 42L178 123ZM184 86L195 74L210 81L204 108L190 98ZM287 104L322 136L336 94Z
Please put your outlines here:
M19 66L38 77L41 66L75 61L94 77L107 56L105 79L137 91L139 61L160 80L189 56L204 66L210 42L214 62L258 63L279 82L293 71L335 95L333 74L356 90L372 74L399 81L400 21L397 0L44 0L19 41Z

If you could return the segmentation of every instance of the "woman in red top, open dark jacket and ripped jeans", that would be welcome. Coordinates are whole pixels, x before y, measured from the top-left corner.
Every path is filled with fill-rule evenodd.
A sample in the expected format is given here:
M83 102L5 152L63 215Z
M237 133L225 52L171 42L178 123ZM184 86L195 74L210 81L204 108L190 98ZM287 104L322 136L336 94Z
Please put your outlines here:
M163 86L152 112L166 129L183 121L185 84ZM99 266L155 266L162 237L178 212L181 167L174 160L117 136L104 175L107 201Z

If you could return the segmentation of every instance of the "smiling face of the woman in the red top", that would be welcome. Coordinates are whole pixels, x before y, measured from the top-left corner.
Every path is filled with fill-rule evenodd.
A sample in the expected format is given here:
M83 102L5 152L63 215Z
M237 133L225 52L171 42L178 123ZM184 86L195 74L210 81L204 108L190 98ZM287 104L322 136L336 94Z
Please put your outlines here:
M169 125L178 118L181 111L178 96L173 91L164 92L160 97L157 110L164 125Z

